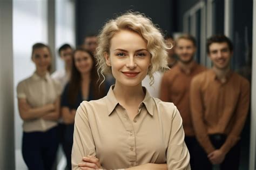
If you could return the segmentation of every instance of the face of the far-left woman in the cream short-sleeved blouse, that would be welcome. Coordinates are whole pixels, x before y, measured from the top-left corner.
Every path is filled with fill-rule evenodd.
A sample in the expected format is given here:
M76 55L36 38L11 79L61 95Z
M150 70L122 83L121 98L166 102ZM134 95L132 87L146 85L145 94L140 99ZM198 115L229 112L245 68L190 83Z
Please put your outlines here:
M32 61L39 71L47 71L51 64L51 55L47 47L35 49L32 55Z

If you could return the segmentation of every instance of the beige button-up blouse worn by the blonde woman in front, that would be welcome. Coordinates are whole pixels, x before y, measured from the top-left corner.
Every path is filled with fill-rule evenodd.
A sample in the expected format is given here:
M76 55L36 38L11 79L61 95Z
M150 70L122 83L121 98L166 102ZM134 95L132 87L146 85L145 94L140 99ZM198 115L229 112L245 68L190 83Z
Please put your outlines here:
M78 163L86 155L96 156L107 169L146 163L190 169L190 154L177 107L151 97L145 90L138 114L131 121L112 87L106 97L83 101L77 109L72 169L79 169Z

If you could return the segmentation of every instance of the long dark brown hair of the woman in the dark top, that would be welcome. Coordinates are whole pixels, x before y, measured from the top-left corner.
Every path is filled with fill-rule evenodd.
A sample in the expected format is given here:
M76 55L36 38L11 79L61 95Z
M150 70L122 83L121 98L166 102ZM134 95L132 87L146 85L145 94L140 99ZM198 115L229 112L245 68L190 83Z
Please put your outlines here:
M73 52L73 57L72 57L72 69L71 69L71 77L70 77L69 89L68 89L68 98L69 98L68 101L69 101L69 104L71 105L74 105L76 103L76 98L78 96L79 91L82 88L82 76L81 76L81 73L77 70L77 67L75 65L75 54L78 51L86 52L92 58L93 64L92 64L92 69L90 73L90 79L91 79L90 87L92 89L89 89L89 93L92 92L93 100L100 99L105 95L105 86L104 84L100 85L100 82L102 82L102 80L99 78L97 73L96 58L92 55L90 51L79 47Z

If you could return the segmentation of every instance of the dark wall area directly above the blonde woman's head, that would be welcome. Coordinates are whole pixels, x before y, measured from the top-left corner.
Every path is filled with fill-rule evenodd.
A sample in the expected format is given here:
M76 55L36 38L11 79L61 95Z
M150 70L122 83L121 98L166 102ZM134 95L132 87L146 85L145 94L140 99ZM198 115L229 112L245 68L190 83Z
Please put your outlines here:
M160 0L130 0L130 1L83 1L77 0L77 44L83 43L83 37L90 33L98 33L107 19L114 14L120 14L127 10L134 10L145 13L152 18L164 31L173 31L173 1Z

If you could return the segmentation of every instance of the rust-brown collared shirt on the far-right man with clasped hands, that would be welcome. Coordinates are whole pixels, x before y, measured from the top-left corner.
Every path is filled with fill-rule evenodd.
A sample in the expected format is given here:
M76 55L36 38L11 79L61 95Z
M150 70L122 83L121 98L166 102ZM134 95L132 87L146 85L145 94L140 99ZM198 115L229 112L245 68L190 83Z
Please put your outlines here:
M194 130L207 153L215 150L208 134L226 134L220 149L227 153L240 138L250 103L250 83L230 71L221 83L211 69L191 82L191 111Z

